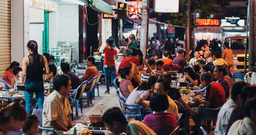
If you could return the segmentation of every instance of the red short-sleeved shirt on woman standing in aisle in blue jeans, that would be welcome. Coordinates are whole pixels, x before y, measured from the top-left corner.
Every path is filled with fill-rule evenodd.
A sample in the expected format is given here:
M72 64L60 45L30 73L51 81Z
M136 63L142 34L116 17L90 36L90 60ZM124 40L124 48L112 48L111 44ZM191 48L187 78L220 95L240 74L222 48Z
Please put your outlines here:
M109 65L109 66L115 66L115 60L114 60L114 56L117 53L116 49L114 48L109 48L108 46L106 46L103 51L105 52L105 57L104 57L104 65Z

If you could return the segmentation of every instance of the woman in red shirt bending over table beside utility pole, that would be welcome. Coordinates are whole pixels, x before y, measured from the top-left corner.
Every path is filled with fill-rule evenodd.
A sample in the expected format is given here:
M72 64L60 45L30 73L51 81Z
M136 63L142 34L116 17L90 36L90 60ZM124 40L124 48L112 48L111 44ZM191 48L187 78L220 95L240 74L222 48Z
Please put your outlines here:
M136 73L137 66L139 65L139 61L140 61L140 59L142 59L142 57L143 57L143 54L142 54L140 49L132 48L131 56L125 57L121 61L120 65L119 65L119 68L118 68L118 70L120 68L124 68L124 67L132 68L132 77L133 77L133 79L131 81L132 81L133 87L135 87L135 88L142 83L141 79L138 77L138 75ZM119 87L119 84L120 84L121 81L122 81L121 74L117 73L117 75L116 75L116 85L118 87Z

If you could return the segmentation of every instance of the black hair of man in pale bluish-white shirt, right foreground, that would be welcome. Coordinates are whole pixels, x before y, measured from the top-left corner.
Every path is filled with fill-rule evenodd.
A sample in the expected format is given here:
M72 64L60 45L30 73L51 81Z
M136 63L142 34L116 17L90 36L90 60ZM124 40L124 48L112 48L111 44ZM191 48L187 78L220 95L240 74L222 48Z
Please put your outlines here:
M235 83L231 90L231 99L236 101L236 99L238 98L238 95L242 95L242 90L244 86L247 86L247 85L250 85L250 84L245 81L239 81Z

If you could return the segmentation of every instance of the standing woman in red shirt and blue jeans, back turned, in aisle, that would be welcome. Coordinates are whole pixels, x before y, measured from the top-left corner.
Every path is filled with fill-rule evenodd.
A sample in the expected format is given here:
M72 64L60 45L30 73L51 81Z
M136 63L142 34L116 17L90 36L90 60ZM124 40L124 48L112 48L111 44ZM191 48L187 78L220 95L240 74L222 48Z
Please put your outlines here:
M109 94L109 79L111 76L112 82L114 83L116 89L116 64L115 60L117 60L117 51L115 49L115 41L112 37L109 37L106 40L106 47L103 49L103 53L105 53L104 62L103 62L103 71L105 73L106 80L106 88L104 91L105 94ZM115 59L114 59L115 56Z

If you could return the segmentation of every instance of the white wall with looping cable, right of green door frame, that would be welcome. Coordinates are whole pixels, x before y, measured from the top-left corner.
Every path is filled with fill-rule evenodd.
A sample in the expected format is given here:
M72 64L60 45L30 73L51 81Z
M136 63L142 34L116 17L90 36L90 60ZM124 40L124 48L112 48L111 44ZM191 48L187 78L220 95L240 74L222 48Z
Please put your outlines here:
M78 5L60 5L60 9L56 12L49 13L49 50L56 48L58 41L78 42L79 18L77 11Z

